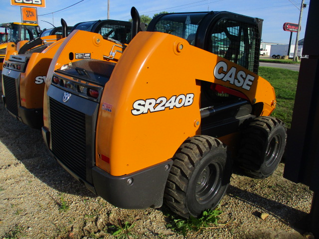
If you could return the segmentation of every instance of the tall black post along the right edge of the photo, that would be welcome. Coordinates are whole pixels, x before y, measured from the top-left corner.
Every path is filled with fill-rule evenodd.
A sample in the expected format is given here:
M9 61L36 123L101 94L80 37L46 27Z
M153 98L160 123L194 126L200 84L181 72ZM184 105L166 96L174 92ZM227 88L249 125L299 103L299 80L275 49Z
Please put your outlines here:
M319 238L319 1L310 0L284 177L314 191L308 230Z

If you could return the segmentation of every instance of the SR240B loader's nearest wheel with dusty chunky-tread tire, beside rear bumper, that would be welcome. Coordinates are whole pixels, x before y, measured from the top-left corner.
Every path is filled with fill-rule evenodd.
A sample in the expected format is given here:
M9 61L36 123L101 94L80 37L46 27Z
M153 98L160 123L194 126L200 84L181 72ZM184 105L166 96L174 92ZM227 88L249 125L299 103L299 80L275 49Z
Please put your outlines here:
M189 218L216 208L232 173L226 146L216 138L196 135L185 140L173 160L164 192L171 211Z

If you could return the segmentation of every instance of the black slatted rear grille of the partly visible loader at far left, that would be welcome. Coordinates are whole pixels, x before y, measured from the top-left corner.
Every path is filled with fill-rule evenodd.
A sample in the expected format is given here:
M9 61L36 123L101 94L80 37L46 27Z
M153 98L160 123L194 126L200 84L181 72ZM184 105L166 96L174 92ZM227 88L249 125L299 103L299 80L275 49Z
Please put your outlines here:
M16 97L15 79L2 75L5 94L5 107L13 115L18 116L18 102Z

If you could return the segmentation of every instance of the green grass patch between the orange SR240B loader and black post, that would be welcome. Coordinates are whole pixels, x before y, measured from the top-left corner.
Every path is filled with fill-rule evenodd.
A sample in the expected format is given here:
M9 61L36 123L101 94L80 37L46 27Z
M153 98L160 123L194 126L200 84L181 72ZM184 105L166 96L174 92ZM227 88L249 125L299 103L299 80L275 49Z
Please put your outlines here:
M290 128L299 72L281 68L259 67L259 75L275 88L277 105L272 116L283 120Z

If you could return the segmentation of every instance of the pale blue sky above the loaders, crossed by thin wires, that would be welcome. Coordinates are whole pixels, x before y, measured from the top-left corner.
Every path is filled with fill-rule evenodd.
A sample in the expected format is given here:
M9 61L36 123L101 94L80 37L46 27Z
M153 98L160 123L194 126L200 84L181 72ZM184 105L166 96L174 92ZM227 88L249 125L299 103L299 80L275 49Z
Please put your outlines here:
M46 8L38 8L38 15L51 13L80 0L46 0ZM128 20L131 7L140 14L153 17L160 11L231 11L242 15L264 19L262 39L264 42L289 43L290 32L283 30L284 22L298 23L302 0L110 0L110 19ZM11 6L10 0L0 0L0 23L20 21L20 7ZM309 0L305 0L309 3ZM302 30L299 39L304 38L309 4L304 8ZM39 16L41 29L60 26L64 18L69 26L82 21L107 19L107 0L83 0L78 4L53 14ZM293 42L297 33L293 33Z

